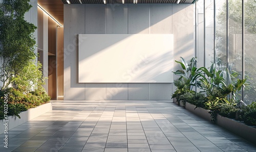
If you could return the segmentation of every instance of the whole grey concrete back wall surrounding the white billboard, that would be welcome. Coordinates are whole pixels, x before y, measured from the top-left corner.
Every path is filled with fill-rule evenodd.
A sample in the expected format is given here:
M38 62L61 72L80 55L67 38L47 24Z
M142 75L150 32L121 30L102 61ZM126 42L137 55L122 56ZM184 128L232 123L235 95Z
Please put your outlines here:
M188 60L194 55L193 12L193 4L64 5L64 99L169 100L170 83L78 83L77 35L174 34L174 60Z

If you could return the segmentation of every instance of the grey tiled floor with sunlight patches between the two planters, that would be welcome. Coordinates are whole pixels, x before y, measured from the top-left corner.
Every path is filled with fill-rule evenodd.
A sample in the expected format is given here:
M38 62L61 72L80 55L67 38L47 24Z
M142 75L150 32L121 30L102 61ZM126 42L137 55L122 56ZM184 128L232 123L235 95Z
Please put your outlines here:
M10 130L9 147L2 143L0 151L256 151L256 146L170 102L55 101L53 111Z

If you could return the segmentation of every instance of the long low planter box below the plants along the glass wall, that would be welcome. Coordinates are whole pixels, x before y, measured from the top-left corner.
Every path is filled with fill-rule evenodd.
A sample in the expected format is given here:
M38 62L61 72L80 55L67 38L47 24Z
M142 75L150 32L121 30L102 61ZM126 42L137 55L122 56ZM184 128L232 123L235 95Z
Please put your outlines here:
M187 109L188 111L196 114L199 117L204 118L205 120L211 121L211 117L210 114L208 113L209 110L205 110L203 108L196 108L195 105L191 105L189 103L186 103L185 105L185 109ZM217 116L217 121L216 124L221 126L222 128L237 134L238 136L252 142L253 144L256 144L256 129L248 126L244 123L241 123L239 121L230 119L230 118L226 118L226 117L222 117L220 115Z

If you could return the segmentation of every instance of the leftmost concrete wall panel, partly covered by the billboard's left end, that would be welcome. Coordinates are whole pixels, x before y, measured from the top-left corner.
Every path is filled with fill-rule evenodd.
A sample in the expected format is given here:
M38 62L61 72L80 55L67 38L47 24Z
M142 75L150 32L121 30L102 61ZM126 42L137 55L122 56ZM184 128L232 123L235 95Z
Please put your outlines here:
M84 100L85 84L78 83L78 35L85 32L84 5L64 5L64 99Z

